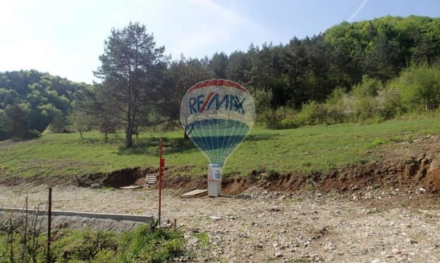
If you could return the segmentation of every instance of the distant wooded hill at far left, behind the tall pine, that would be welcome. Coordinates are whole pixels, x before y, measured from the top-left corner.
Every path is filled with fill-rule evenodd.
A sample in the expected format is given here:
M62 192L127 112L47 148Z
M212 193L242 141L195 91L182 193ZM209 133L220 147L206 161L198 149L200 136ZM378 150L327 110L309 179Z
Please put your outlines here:
M62 131L80 90L88 85L35 70L0 72L0 141Z

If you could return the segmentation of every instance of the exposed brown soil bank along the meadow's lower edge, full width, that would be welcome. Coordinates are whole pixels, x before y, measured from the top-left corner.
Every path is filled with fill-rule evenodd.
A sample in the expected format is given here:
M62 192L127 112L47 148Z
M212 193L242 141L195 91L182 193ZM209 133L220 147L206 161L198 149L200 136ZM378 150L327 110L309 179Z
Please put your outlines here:
M376 153L382 158L373 164L342 167L324 173L304 175L300 173L276 173L250 171L249 175L224 176L223 194L240 194L255 186L269 191L294 192L298 190L320 191L357 190L362 187L423 188L423 191L440 194L440 138L426 136L413 143L394 143L380 148ZM168 167L164 187L178 192L206 189L207 176L173 176L175 172L190 170L193 166ZM267 170L272 169L268 167ZM82 176L33 176L30 178L1 176L0 184L20 185L76 185L81 187L122 187L144 185L147 174L156 174L154 167L134 167L109 173L90 173Z

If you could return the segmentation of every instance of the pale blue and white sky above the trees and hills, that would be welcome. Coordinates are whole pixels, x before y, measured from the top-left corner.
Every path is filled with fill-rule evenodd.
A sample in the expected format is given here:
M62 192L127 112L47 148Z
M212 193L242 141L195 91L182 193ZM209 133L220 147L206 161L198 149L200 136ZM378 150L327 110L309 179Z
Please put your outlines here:
M286 44L384 15L439 17L440 0L0 0L0 71L99 81L105 39L131 21L178 59Z

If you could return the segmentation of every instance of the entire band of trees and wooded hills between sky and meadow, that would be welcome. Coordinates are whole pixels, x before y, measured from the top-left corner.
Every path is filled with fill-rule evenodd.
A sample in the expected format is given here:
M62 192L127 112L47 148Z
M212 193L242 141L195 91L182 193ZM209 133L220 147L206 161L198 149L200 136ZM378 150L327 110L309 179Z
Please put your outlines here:
M440 104L440 18L342 22L317 36L227 55L171 59L145 25L112 29L94 72L73 83L38 71L0 73L0 139L180 124L180 101L201 80L225 78L253 94L257 121L272 128L387 120Z

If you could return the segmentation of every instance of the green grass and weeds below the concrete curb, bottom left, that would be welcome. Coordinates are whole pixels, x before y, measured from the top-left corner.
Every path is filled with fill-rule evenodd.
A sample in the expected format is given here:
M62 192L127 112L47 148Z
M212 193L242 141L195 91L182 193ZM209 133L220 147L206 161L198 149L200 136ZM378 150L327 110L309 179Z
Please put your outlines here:
M39 236L34 261L23 255L22 238L15 232L11 243L0 231L0 262L11 262L11 251L13 262L46 262L46 235ZM55 232L51 254L53 262L170 262L184 253L184 242L179 231L147 225L124 233L61 229Z

